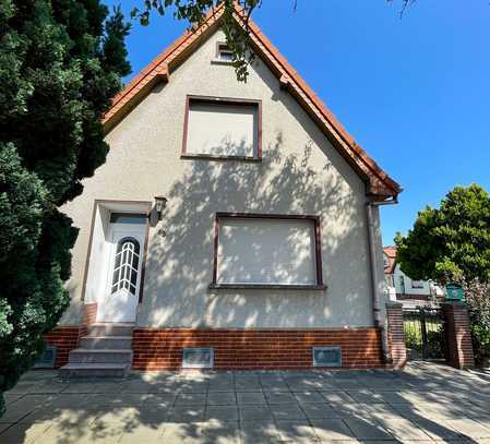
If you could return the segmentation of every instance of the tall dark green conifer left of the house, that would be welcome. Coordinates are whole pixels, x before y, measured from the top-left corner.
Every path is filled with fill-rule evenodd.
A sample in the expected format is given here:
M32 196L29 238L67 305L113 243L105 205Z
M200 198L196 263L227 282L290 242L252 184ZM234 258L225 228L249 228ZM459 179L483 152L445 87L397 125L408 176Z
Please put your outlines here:
M77 229L58 208L105 161L128 33L99 0L0 0L0 393L69 304Z

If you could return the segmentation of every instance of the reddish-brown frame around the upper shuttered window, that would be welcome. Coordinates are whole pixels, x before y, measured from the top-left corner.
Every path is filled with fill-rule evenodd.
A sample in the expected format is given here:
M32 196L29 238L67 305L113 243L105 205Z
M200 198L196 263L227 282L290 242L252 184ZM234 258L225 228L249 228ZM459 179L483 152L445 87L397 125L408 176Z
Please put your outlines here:
M204 104L225 104L225 105L255 105L256 106L256 153L253 156L227 156L212 154L190 154L187 152L188 131L189 131L189 111L191 101L201 101ZM204 160L240 160L240 161L262 161L262 100L250 98L230 98L217 96L196 96L188 95L186 97L186 111L183 116L183 136L182 159L204 159Z

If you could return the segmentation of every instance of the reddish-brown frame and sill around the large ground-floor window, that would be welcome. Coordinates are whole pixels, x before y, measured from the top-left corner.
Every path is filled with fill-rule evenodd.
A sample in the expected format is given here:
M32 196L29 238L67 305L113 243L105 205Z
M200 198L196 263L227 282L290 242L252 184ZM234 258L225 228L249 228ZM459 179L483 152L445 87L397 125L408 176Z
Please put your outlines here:
M222 219L255 219L255 220L310 220L313 223L314 233L314 256L315 256L315 272L316 284L218 284L218 247L219 247L219 228ZM326 285L323 283L323 267L322 267L322 244L321 244L321 228L320 217L313 215L290 215L290 214L262 214L262 213L216 213L214 224L214 252L213 252L213 280L210 284L210 289L290 289L290 290L325 290Z

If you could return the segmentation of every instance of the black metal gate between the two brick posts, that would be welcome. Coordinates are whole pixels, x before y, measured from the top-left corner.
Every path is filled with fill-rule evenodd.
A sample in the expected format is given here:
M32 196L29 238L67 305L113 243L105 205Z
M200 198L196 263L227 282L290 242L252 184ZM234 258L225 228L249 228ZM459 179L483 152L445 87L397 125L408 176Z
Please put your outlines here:
M408 359L445 359L445 323L441 309L404 309L403 321Z

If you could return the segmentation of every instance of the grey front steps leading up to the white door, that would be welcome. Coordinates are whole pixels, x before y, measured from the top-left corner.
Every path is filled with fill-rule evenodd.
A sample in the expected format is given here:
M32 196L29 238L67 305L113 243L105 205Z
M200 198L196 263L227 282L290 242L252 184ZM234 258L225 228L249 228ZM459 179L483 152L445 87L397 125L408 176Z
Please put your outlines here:
M133 361L134 324L93 324L70 351L60 377L126 377Z

